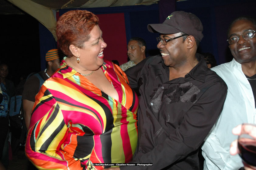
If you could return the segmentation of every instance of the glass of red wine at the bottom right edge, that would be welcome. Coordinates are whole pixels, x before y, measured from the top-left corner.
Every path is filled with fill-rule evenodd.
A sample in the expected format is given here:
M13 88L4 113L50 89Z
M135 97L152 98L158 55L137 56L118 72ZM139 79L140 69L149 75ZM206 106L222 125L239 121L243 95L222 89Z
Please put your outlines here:
M256 169L256 124L242 124L238 149L244 165Z

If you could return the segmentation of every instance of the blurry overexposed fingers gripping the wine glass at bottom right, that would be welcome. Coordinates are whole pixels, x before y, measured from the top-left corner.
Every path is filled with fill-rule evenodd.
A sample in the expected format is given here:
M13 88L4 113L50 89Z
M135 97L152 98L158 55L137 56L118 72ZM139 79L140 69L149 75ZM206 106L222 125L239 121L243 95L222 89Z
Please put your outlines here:
M256 140L256 126L253 126L251 124L246 124L247 128L244 128L244 130L246 130L246 132ZM240 135L241 134L241 129L242 129L242 124L238 125L237 127L234 127L232 130L232 133L235 135ZM234 140L231 144L230 144L230 155L236 155L238 154L240 151L238 149L238 144L237 144L237 139ZM245 170L255 170L255 168L251 167L250 165L244 163L244 169Z

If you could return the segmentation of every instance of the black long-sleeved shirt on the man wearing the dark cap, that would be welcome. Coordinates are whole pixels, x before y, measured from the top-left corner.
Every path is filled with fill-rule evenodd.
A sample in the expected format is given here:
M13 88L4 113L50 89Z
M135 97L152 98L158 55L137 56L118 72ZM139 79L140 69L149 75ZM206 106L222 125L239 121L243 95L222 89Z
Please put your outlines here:
M153 163L133 169L199 169L198 148L223 108L227 85L202 55L196 58L199 63L185 77L170 81L161 56L126 70L130 86L141 94L132 162Z

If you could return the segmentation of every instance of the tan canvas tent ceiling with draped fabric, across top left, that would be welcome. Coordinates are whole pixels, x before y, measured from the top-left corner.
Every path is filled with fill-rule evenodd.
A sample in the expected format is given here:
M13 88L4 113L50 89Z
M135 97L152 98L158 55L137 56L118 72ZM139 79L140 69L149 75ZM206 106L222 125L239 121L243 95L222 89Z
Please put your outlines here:
M9 1L9 2L8 2ZM8 9L8 14L28 13L42 23L55 40L56 37L56 17L53 10L70 8L97 8L130 5L151 5L159 0L0 0L2 9ZM18 8L17 8L18 7ZM2 10L0 8L0 14ZM20 10L19 10L20 9ZM11 12L11 10L13 10Z

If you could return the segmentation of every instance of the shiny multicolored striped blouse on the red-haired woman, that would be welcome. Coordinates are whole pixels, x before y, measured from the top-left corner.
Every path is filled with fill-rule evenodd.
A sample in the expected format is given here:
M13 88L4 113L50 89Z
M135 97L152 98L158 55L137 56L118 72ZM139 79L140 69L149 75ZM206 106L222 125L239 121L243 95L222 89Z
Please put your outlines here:
M119 101L62 60L36 95L26 155L38 169L103 169L126 163L137 147L138 97L126 74L106 60L101 67Z

